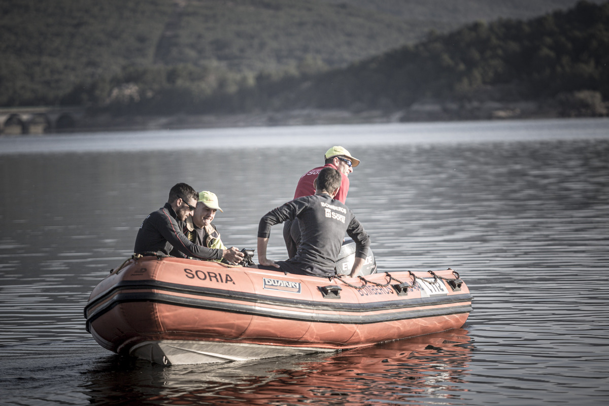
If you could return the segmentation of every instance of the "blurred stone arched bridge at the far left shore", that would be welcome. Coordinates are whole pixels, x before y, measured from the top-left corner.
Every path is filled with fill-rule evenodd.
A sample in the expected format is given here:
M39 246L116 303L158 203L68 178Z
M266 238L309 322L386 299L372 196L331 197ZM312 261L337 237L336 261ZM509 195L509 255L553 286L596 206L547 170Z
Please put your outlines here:
M43 134L69 131L85 115L83 107L2 107L0 134Z

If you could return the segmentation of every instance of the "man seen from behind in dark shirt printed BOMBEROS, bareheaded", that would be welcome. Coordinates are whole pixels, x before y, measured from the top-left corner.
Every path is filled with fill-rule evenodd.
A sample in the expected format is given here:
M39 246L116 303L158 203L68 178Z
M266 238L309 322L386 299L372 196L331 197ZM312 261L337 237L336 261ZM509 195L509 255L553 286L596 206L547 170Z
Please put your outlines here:
M357 275L368 255L370 237L347 206L335 200L340 187L340 173L322 169L315 180L315 195L299 197L262 217L258 226L258 262L260 268L312 276L336 275L334 266L345 231L356 243L356 254L349 276ZM298 219L301 242L297 254L287 261L273 262L266 257L271 226Z

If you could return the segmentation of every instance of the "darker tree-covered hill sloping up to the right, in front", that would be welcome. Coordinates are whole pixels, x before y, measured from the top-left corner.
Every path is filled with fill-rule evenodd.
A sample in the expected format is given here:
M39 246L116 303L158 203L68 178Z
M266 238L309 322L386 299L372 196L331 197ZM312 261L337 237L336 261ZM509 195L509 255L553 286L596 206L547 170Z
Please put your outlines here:
M310 80L258 86L236 100L246 103L241 108L389 111L426 101L459 110L468 102L534 100L557 103L566 116L594 116L607 114L602 99L609 99L609 2L582 1L529 21L431 35Z

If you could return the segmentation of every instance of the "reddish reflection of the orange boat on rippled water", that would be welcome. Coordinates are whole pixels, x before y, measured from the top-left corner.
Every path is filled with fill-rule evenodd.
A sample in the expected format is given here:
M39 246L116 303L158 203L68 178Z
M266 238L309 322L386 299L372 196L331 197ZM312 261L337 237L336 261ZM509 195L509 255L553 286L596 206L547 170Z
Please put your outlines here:
M118 373L129 380L132 401L150 404L417 404L430 396L459 404L464 389L456 384L468 376L470 341L457 329L333 355L171 368L116 357L107 373L93 372L84 391L94 404L125 396Z

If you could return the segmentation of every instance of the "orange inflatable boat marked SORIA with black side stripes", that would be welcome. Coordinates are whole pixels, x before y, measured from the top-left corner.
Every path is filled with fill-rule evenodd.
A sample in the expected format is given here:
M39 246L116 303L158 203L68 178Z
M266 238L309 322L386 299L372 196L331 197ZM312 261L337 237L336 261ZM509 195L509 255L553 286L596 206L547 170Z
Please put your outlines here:
M336 351L459 328L471 299L451 269L319 278L134 255L95 287L85 318L106 349L193 364Z

